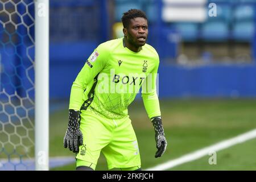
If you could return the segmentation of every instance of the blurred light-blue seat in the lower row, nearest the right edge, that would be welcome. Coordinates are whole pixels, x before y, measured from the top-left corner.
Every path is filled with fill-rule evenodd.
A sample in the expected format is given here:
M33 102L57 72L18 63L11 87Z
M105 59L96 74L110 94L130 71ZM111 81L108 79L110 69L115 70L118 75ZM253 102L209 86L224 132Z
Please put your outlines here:
M235 23L233 27L233 38L238 41L252 42L254 39L254 26L253 20Z

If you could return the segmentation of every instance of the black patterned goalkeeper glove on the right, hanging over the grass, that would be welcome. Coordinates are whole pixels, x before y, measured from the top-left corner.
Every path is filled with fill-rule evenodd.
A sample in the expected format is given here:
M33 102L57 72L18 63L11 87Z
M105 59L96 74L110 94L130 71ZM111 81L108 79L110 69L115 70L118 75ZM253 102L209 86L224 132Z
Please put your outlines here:
M167 141L166 138L164 137L164 130L161 117L151 118L151 121L155 130L156 148L158 148L158 151L156 151L155 153L155 158L159 158L164 154L164 151L166 151Z

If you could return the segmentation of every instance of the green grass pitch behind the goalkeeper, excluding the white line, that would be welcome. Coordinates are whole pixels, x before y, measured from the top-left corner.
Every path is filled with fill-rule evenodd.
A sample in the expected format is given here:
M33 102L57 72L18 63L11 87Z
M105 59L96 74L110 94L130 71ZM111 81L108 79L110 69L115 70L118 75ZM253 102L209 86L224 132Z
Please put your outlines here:
M156 152L154 130L142 101L129 107L141 152L142 169L179 158L221 140L236 137L256 128L256 100L160 100L168 146L162 158ZM68 124L68 108L50 115L50 156L74 156L63 147ZM256 170L256 139L217 152L217 164L210 156L184 163L168 170ZM75 163L51 170L74 170ZM107 170L100 156L96 170Z

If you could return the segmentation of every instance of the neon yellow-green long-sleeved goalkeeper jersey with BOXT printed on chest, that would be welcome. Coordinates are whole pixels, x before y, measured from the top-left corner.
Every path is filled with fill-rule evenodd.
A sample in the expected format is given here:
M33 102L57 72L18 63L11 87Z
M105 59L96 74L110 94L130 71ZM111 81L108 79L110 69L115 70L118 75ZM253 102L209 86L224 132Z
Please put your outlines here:
M156 94L158 65L158 53L148 44L133 52L125 47L123 38L102 43L73 82L69 109L120 119L128 115L127 107L142 88L148 117L160 116Z

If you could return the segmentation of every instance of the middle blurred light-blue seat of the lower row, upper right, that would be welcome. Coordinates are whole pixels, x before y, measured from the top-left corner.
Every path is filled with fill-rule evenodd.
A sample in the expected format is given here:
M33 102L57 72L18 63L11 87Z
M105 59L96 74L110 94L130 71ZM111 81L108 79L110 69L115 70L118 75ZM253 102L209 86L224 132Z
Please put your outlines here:
M228 24L225 22L205 22L201 29L201 38L207 41L225 41L229 38Z

